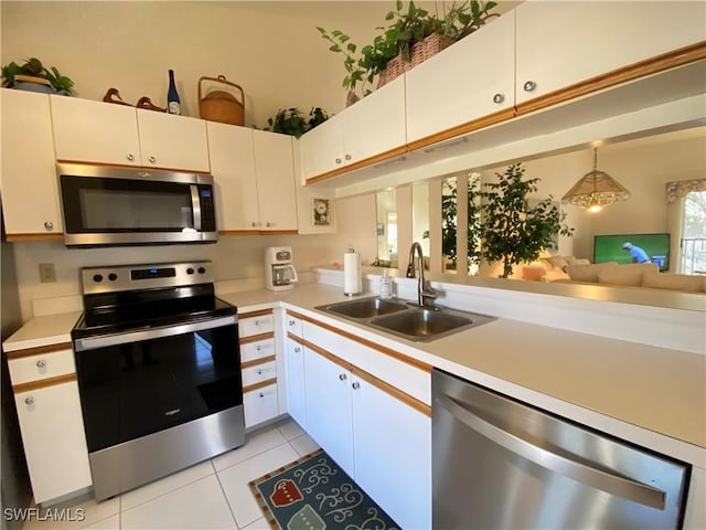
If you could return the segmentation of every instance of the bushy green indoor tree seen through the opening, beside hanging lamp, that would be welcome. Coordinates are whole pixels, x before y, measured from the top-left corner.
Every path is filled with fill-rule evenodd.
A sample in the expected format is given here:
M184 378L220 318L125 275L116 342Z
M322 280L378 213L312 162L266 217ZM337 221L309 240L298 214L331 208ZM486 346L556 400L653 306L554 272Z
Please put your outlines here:
M544 248L556 245L558 234L570 236L574 229L564 224L566 212L559 210L552 195L531 204L528 193L537 191L538 178L522 180L522 163L495 173L498 182L484 182L490 191L481 191L481 255L489 262L503 262L499 276L506 278L513 265L533 262Z

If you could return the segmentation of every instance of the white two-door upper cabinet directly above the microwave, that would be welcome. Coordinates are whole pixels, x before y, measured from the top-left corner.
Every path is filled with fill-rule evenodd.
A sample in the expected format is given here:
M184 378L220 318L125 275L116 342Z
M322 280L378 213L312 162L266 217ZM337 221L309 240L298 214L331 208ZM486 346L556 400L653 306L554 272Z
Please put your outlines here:
M51 102L58 160L210 170L202 119L65 96Z

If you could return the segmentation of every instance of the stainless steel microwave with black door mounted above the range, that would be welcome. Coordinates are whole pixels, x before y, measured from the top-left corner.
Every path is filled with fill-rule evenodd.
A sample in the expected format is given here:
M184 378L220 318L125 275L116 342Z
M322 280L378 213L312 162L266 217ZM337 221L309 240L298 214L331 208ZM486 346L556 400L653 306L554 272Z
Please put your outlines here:
M66 246L214 243L213 177L58 163Z

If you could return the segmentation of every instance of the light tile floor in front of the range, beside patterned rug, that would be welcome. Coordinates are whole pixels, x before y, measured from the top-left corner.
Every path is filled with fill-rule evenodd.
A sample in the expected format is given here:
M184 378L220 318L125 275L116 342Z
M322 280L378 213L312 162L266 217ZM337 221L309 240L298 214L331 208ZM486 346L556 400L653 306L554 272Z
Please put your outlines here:
M291 420L253 432L246 444L183 471L97 504L69 508L82 521L28 520L23 530L269 528L247 483L319 448Z

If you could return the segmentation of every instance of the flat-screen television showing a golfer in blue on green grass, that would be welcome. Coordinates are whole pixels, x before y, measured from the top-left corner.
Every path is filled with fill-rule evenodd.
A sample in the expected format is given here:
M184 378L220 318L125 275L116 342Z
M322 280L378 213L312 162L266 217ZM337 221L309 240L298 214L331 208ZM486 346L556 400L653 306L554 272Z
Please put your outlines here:
M593 263L632 263L625 243L639 246L660 271L670 268L670 234L614 234L593 236Z

